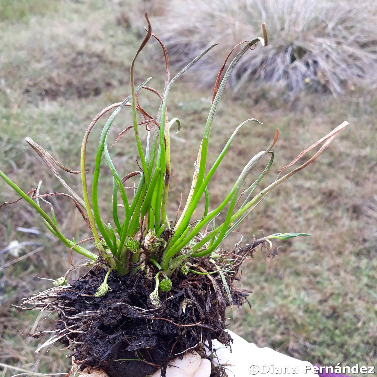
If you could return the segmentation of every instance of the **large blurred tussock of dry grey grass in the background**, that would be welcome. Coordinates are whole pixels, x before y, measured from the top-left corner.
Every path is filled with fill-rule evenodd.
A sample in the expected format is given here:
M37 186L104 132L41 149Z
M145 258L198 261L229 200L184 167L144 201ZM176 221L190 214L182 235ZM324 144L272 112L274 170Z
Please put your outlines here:
M160 2L156 2L157 4ZM158 6L158 5L156 5ZM211 43L223 48L192 70L204 85L216 78L213 68L239 40L267 25L269 46L248 54L234 70L234 92L251 92L255 83L279 84L293 92L311 87L342 93L346 87L374 83L377 72L377 3L354 0L175 0L156 17L171 61L182 65ZM205 36L205 37L203 37Z

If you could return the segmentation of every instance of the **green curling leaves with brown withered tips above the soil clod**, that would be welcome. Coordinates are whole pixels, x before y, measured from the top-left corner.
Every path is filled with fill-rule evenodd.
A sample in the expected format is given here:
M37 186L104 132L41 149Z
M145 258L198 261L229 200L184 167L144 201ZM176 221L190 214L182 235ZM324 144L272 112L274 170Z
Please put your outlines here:
M0 176L19 195L21 195L21 198L24 198L26 201L28 201L29 204L31 204L38 211L46 227L55 236L57 236L57 238L59 238L71 250L84 255L91 261L96 261L98 255L83 248L81 246L81 243L83 243L84 241L94 240L99 255L102 257L102 259L100 259L101 263L109 267L105 281L98 289L96 296L103 296L109 289L107 285L107 277L109 276L109 273L112 269L115 269L120 274L136 273L138 271L145 271L145 273L149 273L149 271L156 271L156 291L154 293L154 296L153 293L151 295L151 301L153 302L153 297L155 297L155 300L158 301L158 287L162 291L170 290L172 283L169 277L174 273L174 271L177 270L177 268L181 269L182 274L187 274L189 271L196 272L193 264L190 263L190 261L195 260L195 258L207 257L210 258L211 261L216 260L216 258L221 255L221 253L219 253L219 250L221 242L224 240L224 238L226 238L231 232L233 232L234 229L238 227L238 225L248 215L250 215L254 208L264 199L267 193L278 184L285 181L285 179L289 178L291 175L314 161L314 159L316 159L323 152L323 150L326 149L329 143L331 143L333 138L346 126L346 124L343 123L332 133L329 133L329 135L325 136L325 138L321 139L306 151L302 152L303 154L305 154L320 142L326 141L322 148L310 160L305 162L305 164L292 170L290 173L282 176L281 178L276 179L270 185L267 185L267 187L254 195L254 191L256 190L257 185L264 178L273 163L274 153L271 151L271 148L276 143L279 134L278 130L276 130L276 134L271 145L267 149L257 153L255 156L253 156L253 158L250 159L250 161L248 161L244 169L240 172L238 179L234 183L228 195L224 198L221 204L219 204L215 209L211 211L209 210L210 203L208 185L210 184L211 179L218 169L222 159L226 155L234 137L241 129L241 127L243 127L245 124L250 122L260 123L254 118L250 118L236 127L236 129L228 139L228 142L225 144L222 152L219 154L216 161L207 171L208 144L210 139L211 125L216 112L216 108L219 104L219 100L224 91L225 84L227 83L228 78L230 77L230 74L236 66L237 62L241 59L242 55L244 55L245 52L250 49L250 46L253 46L257 42L260 42L263 46L267 44L267 33L265 32L264 25L262 25L264 37L257 37L250 41L245 41L245 46L241 49L241 51L238 52L236 57L228 66L228 69L226 70L224 76L222 77L222 72L225 68L225 64L231 52L233 52L233 49L228 55L224 65L219 72L213 93L212 106L204 127L204 134L199 148L198 158L195 162L195 171L193 174L191 189L187 197L186 204L179 218L178 211L175 222L173 222L172 218L170 218L167 212L171 177L170 129L174 124L177 124L179 131L181 123L177 118L173 118L170 121L168 120L167 98L169 95L169 90L172 87L173 83L200 58L207 54L207 52L210 51L216 44L213 44L212 46L207 48L190 64L185 66L172 80L170 80L169 60L167 57L166 49L164 48L161 40L159 40L156 35L152 34L148 18L147 21L149 25L147 35L144 38L131 64L131 93L122 103L112 104L106 107L106 109L102 110L90 124L85 133L82 143L80 171L75 172L67 169L58 161L56 161L51 155L49 155L49 153L46 152L42 147L38 146L37 143L32 141L30 138L26 138L28 143L43 159L43 161L51 169L54 175L60 180L69 194L50 193L40 195L40 185L38 185L37 189L25 193L1 171ZM151 80L151 78L148 78L137 87L135 87L134 83L133 70L136 57L146 45L151 36L155 37L161 44L165 55L166 82L162 95L157 92L157 90L147 86L147 83ZM156 119L154 119L141 108L138 101L138 92L141 89L149 90L158 95L158 97L160 98L161 106L159 108ZM135 142L139 153L141 171L129 173L128 175L121 178L121 175L118 173L118 170L114 166L112 158L110 156L107 136L109 134L109 130L113 124L113 121L125 106L132 107L133 125L124 130L120 134L120 136L118 136L116 142L120 139L123 133L125 133L128 129L133 128L133 131L135 133ZM100 117L111 109L115 109L115 111L107 120L102 130L98 144L92 179L92 195L90 203L89 193L87 190L87 176L85 166L87 140L90 131L93 129ZM143 115L144 121L138 122L138 112ZM141 137L139 135L139 126L141 124L146 124L147 127L145 150L143 149L143 146L141 144ZM247 176L267 155L269 156L269 161L264 171L248 188L245 189L245 181ZM302 157L302 154L300 154L298 158L300 157ZM112 174L112 222L103 220L98 204L98 181L100 178L101 161L103 160L103 158L106 160L107 166L109 167L109 170ZM297 159L287 167L291 166L294 162L297 161ZM77 195L77 193L75 193L69 187L69 185L67 185L67 183L61 178L53 164L60 167L61 169L66 170L67 172L81 174L83 198ZM124 187L124 182L135 175L140 175L140 178L137 189L133 193L133 198L131 201L129 199L129 195L127 195L126 192L127 187ZM31 193L32 195L30 196ZM118 203L118 194L120 196L121 203ZM75 242L75 240L71 241L70 239L66 238L58 228L58 224L54 215L54 208L52 207L51 203L44 199L45 197L51 195L64 195L74 200L77 208L80 210L84 219L87 221L87 224L89 225L90 230L93 233L93 237L80 242ZM244 199L241 201L242 204L239 205L238 202L241 196ZM205 201L204 213L202 214L201 218L193 219L193 215L196 208L198 207L198 203L203 197ZM41 208L40 200L46 202L51 206L51 216L49 216ZM86 211L86 216L84 215L84 210ZM225 220L221 224L217 225L215 224L215 219L220 213L224 213ZM208 230L208 228L210 230ZM287 239L296 237L298 235L306 234L277 233L272 234L271 236L267 236L265 237L265 239L268 240L268 242L271 242L269 241L270 239ZM163 279L158 283L159 274L162 274ZM66 284L66 277L60 278L55 281L55 285L63 284Z

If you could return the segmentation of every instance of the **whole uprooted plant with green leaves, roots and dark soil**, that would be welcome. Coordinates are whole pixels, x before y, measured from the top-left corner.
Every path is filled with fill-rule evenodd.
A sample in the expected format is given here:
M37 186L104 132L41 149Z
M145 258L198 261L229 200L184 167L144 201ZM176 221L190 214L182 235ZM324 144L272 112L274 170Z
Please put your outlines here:
M50 339L44 342L38 350L52 346L55 342L63 343L65 346L63 349L70 351L68 357L75 357L75 370L78 367L83 369L86 366L91 368L101 366L106 369L110 377L123 375L144 377L157 368L160 368L161 375L165 376L168 361L177 355L183 355L195 348L203 357L206 357L203 345L206 344L211 350L213 339L217 339L226 346L230 345L231 338L226 331L225 310L227 307L233 309L234 305L239 306L245 303L249 293L238 288L237 284L238 271L242 262L252 257L256 248L261 248L269 256L274 256L272 244L274 239L286 240L309 234L270 234L260 239L253 239L244 248L241 247L240 241L231 251L225 251L221 247L222 241L250 215L274 187L311 164L348 126L347 122L343 122L328 135L305 149L278 172L290 168L305 154L323 143L310 159L282 177L278 176L254 195L257 186L273 164L272 148L279 136L279 130L276 130L270 146L256 153L247 162L221 204L213 209L210 207L211 179L237 132L251 121L262 124L254 118L239 124L207 172L211 124L225 84L242 55L249 51L251 46L256 43L261 43L262 46L267 44L267 31L263 24L263 37L237 44L225 58L215 83L212 106L204 127L198 158L194 163L192 185L186 204L182 211L181 204L178 211L176 208L169 208L170 128L173 124L177 124L179 131L181 122L177 118L168 120L167 95L172 84L215 44L202 52L170 80L166 48L162 41L152 34L147 15L146 20L148 22L147 35L131 64L131 93L123 102L107 106L90 123L81 147L80 170L64 167L32 139L26 138L68 194L59 192L41 194L42 182L39 182L35 189L24 192L0 170L0 177L21 196L21 199L25 199L37 210L51 233L70 248L71 264L73 265L72 251L87 258L85 264L78 267L73 265L72 269L90 268L83 277L67 284L67 277L72 270L70 269L65 276L55 280L54 288L24 300L22 308L58 313L59 318L54 329L31 334L35 337L51 334ZM156 38L164 51L166 80L162 95L152 87L146 86L151 78L135 87L133 74L135 61L150 37ZM245 44L244 48L236 55L223 76L228 58L241 44ZM141 89L149 90L161 100L156 118L141 107L138 97ZM112 161L107 137L116 116L125 107L132 108L132 126L126 127L120 133L112 147L121 142L122 136L128 130L133 129L138 147L140 170L128 173L121 178ZM86 146L93 127L104 114L112 109L115 110L104 125L98 143L90 202ZM138 122L137 113L143 115L143 121ZM140 125L145 125L147 131L145 153L138 128ZM269 156L269 161L263 172L254 177L251 180L253 183L247 187L248 176L265 156ZM104 221L99 205L99 178L100 171L103 169L101 167L103 157L112 176L111 222ZM65 172L80 174L82 198L64 181L54 165ZM128 179L136 179L135 177L139 177L137 187L124 187ZM74 201L92 237L77 242L61 233L54 207L47 200L55 195ZM195 219L194 215L201 199L205 201L204 213ZM20 199L14 202L18 200ZM43 210L42 206L51 210L51 216ZM216 225L216 219L221 213L224 214L223 222ZM69 216L69 214L66 215ZM92 241L98 254L81 246L84 242ZM224 367L212 359L212 375L217 377L224 373Z

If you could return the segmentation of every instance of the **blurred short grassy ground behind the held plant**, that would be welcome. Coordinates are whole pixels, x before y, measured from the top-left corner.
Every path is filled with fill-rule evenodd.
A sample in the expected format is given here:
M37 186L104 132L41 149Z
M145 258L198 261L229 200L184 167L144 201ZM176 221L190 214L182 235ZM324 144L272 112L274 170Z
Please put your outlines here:
M26 191L36 187L40 179L43 192L62 189L24 137L30 136L64 165L78 169L82 136L93 116L108 104L123 100L129 92L129 64L141 32L125 27L128 23L116 17L114 7L101 0L4 0L0 5L1 169ZM118 25L120 19L123 25ZM156 89L162 89L162 54L152 45L141 54L136 81L149 76ZM155 113L156 100L148 93L142 94L142 105ZM190 86L189 76L182 77L170 95L170 118L181 120L178 136L185 139L185 143L172 141L172 214L178 208L181 192L185 196L189 189L210 97L211 90L198 92ZM257 97L240 95L231 99L225 92L211 133L211 161L241 121L252 116L264 125L250 124L237 136L210 186L212 208L228 192L243 164L268 146L276 127L280 129L274 148L277 170L343 120L351 126L312 166L271 192L240 229L245 240L253 234L260 236L259 230L265 234L305 231L312 237L282 243L280 255L274 259L264 261L259 253L248 262L243 285L254 291L250 296L252 306L229 313L234 318L230 327L258 346L270 346L312 363L374 365L377 138L373 114L377 97L374 92L353 91L342 98L318 94L300 95L293 101L282 98L270 98L261 90ZM103 122L90 136L89 173ZM125 110L117 118L110 138L130 123L130 111ZM126 138L112 153L119 170L137 170L136 148ZM102 171L103 176L108 174L106 169ZM64 178L79 192L77 176ZM275 173L270 173L265 183L274 178ZM104 182L101 204L106 211L111 187ZM14 199L15 194L0 182L0 202ZM84 238L87 230L74 205L64 199L52 202L63 233L69 238ZM36 227L42 233L27 236L17 227ZM240 234L235 234L227 240L227 246L239 238ZM69 268L68 250L49 238L38 217L22 202L3 207L0 250L11 241L26 239L42 243L43 249L5 268L0 283L0 288L4 285L0 361L38 372L65 372L69 365L58 347L34 354L41 340L26 338L19 332L32 331L37 313L21 312L11 305L51 285L40 277L55 279L64 274ZM35 248L3 253L4 264ZM80 258L75 256L78 261ZM79 274L75 271L72 277ZM54 316L49 317L43 326L53 320ZM5 373L12 374L11 370Z

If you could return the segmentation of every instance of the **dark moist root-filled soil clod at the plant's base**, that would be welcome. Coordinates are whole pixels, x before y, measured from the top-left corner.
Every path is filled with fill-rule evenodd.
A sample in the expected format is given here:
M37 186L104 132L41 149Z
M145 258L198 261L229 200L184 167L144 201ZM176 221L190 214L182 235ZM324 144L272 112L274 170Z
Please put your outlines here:
M238 257L249 252L246 248L239 251ZM205 263L205 259L198 261L208 268ZM226 279L233 305L240 306L247 302L250 292L235 287L237 272ZM112 271L108 278L109 292L94 297L105 274L106 269L99 264L72 284L24 302L24 305L34 303L34 309L58 313L55 325L58 342L72 351L67 358L74 356L81 369L100 367L110 377L145 377L160 368L164 377L167 363L177 354L195 349L205 357L204 344L211 351L212 339L230 345L225 310L231 303L217 274L184 276L177 271L172 276L172 290L168 293L159 290L158 308L149 300L155 279L144 274L120 276ZM226 375L224 368L213 363L212 366L211 377Z

